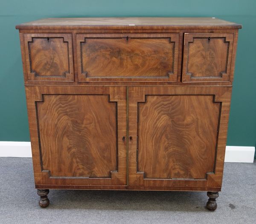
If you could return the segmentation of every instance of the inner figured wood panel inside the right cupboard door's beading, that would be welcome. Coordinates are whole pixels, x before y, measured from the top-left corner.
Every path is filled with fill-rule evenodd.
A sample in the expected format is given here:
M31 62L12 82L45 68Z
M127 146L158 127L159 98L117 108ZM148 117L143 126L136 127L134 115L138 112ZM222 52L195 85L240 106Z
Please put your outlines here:
M205 179L215 170L220 103L212 95L147 95L138 103L138 172Z

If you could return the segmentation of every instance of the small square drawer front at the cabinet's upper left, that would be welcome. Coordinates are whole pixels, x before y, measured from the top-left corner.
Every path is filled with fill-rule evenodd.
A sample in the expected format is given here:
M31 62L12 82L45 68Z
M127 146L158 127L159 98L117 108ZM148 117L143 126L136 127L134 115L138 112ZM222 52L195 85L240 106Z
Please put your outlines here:
M72 34L23 34L28 81L73 81Z

